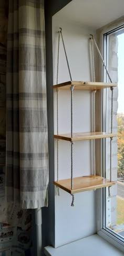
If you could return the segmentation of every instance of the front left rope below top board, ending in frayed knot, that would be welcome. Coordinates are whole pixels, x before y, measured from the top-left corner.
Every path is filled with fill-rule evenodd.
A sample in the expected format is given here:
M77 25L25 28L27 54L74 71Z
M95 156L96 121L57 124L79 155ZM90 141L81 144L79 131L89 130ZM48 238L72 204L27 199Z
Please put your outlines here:
M71 91L71 138L73 138L73 99L74 99L74 95L73 95L73 91L74 91L74 85L71 85L70 87L70 91ZM73 145L74 142L71 141L71 189L73 189ZM73 196L73 200L71 202L71 206L74 206L74 194Z

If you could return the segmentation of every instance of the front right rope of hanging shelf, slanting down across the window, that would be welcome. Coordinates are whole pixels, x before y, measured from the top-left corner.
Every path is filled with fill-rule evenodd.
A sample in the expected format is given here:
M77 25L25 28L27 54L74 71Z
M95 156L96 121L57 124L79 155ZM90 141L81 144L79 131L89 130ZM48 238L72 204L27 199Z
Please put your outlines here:
M104 59L103 59L102 56L101 56L101 53L100 53L100 51L99 51L98 45L97 45L97 43L96 43L96 40L95 40L94 36L91 35L91 34L90 34L90 40L91 40L91 42L94 41L95 46L96 46L96 49L97 49L97 52L98 52L98 54L99 54L99 56L100 56L100 58L101 58L101 62L102 62L102 64L103 64L104 67L105 67L105 70L106 70L106 73L107 73L107 75L108 75L108 77L109 77L110 82L112 83L111 77L110 77L109 72L108 72L108 70L107 70L107 67L106 67L106 64L105 64L105 62L104 62ZM92 46L91 46L91 47L92 47ZM91 51L92 51L92 53L93 53L93 48L92 48ZM92 60L92 63L93 63L93 72L94 72L94 74L95 74L94 60ZM94 76L94 77L95 77L95 76ZM111 90L111 133L112 133L112 128L113 128L113 87L112 87L112 86L110 87L110 90ZM111 172L112 172L112 170L111 170L112 139L113 139L113 138L110 137L110 182L111 182ZM111 186L108 187L108 196L109 196L109 197L110 197L110 187L111 187Z

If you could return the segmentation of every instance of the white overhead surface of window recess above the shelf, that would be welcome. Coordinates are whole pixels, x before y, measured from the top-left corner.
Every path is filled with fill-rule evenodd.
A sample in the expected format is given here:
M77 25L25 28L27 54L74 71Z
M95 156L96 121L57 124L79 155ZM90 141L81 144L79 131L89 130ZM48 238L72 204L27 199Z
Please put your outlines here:
M56 16L100 28L124 15L124 0L73 0Z

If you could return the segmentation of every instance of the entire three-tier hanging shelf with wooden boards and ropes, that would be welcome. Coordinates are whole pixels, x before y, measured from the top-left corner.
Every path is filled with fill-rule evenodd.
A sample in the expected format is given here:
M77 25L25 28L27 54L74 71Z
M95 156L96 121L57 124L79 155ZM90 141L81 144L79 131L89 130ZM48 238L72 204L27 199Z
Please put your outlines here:
M68 66L68 71L69 71L69 76L70 76L70 81L60 83L58 84L58 70L59 70L59 44L60 44L60 36L61 40L63 43L64 47L64 52L66 56L66 61L67 61L67 66ZM107 67L104 63L104 60L101 56L101 53L99 51L99 48L97 46L97 43L95 41L94 36L90 35L90 42L91 42L91 54L92 54L92 67L93 67L93 74L94 74L94 82L86 82L86 81L73 81L70 73L70 67L68 63L68 57L66 53L66 48L64 44L64 39L63 39L63 34L62 34L62 29L60 28L58 31L58 57L57 57L57 83L56 85L53 86L54 90L56 90L56 95L57 95L57 134L54 135L54 138L57 139L57 181L54 181L54 184L58 187L58 195L59 195L59 188L65 190L66 192L70 193L73 196L73 200L71 203L71 206L74 206L74 194L79 193L82 191L87 191L87 190L96 190L99 188L108 188L109 196L110 196L110 186L115 185L115 182L112 182L111 180L111 148L112 148L112 139L113 137L117 136L117 134L114 134L112 132L112 115L113 115L113 88L117 86L117 84L112 83L110 75L108 73ZM107 75L109 77L110 83L101 83L101 82L96 82L96 77L95 77L95 64L94 64L94 48L93 48L93 43L96 46L96 49L98 51L98 54L101 58L101 62L105 67L105 70L107 72ZM104 88L110 88L111 89L111 131L110 133L108 132L99 132L96 131L96 91L97 90L102 90ZM58 115L59 115L59 110L58 110L58 101L59 101L59 95L58 92L59 90L70 90L70 98L71 98L71 130L69 134L59 134L59 123L58 123ZM93 132L82 132L82 133L74 133L73 132L73 99L74 99L74 90L87 90L87 91L92 91L94 93L94 131ZM110 138L110 180L103 178L102 176L96 175L96 156L95 156L95 140L96 139L103 139L103 138ZM65 140L69 141L71 143L71 173L70 173L70 179L66 180L60 180L59 181L59 140ZM74 178L73 177L73 147L74 147L74 142L76 141L84 141L84 140L93 140L94 141L94 175L89 175L89 176L81 176Z

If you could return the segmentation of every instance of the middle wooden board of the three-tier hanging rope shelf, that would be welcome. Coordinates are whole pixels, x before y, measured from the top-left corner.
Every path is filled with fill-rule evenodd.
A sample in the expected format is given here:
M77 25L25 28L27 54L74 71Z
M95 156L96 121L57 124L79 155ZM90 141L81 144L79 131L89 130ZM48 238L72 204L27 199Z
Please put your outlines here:
M117 134L106 133L106 132L80 132L74 133L71 137L70 133L68 134L58 134L54 135L55 139L65 140L65 141L84 141L84 140L93 140L93 139L102 139L107 137L116 137Z

